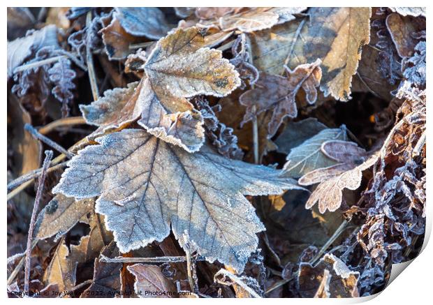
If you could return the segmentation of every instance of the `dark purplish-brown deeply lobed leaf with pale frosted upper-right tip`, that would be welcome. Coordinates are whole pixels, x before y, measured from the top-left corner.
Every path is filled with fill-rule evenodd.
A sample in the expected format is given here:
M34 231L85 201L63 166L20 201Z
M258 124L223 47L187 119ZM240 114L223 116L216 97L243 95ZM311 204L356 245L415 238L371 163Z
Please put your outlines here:
M268 137L274 135L284 117L297 117L295 97L302 88L305 91L307 102L311 105L316 102L316 87L321 82L321 60L314 63L302 64L295 70L287 69L287 77L261 73L256 87L240 96L240 103L247 106L247 111L241 123L245 124L257 114L265 110L273 110L272 119L268 125Z

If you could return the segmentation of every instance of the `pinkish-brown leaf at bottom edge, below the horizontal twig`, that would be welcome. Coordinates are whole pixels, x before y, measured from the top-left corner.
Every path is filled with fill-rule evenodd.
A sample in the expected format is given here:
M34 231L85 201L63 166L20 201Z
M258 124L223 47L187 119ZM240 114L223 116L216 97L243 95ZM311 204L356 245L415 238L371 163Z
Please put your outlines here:
M135 276L134 290L140 293L140 297L170 297L160 292L176 292L173 281L166 278L161 267L155 265L135 264L126 267ZM155 295L147 295L151 292Z

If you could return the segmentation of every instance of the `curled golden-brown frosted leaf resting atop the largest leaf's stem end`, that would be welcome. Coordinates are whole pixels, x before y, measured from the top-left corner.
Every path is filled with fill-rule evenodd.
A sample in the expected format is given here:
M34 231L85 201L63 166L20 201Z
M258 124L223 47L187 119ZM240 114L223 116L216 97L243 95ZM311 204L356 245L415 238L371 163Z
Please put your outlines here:
M186 98L226 96L240 85L233 65L207 43L196 27L177 29L159 40L144 66L147 103L139 124L191 152L204 142L203 117Z

